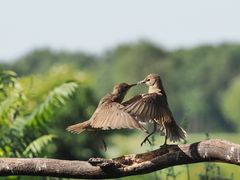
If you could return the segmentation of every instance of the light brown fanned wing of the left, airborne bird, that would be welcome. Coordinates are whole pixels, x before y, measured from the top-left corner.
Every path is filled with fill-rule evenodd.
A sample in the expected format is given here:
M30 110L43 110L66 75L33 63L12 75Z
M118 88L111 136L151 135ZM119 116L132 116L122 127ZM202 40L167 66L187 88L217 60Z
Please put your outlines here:
M139 122L123 109L123 105L111 102L104 103L93 114L91 126L102 130L107 129L142 129Z

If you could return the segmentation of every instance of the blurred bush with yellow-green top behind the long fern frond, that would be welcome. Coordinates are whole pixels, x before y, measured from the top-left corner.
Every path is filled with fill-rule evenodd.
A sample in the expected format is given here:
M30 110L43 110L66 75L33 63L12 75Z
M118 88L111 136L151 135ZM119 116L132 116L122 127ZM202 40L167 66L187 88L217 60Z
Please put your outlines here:
M71 88L69 87L74 87L71 84L75 83L69 82L69 79L78 83L78 88L74 90L74 94L71 93ZM30 122L31 119L34 119L34 123L37 123L37 117L31 118L35 117L35 115L40 115L41 118L48 117L49 115L51 117L51 121L45 122L44 120L43 123L37 123L37 125L30 123L32 124L31 126L38 128L44 134L50 133L57 136L53 143L45 147L46 156L66 159L86 159L90 156L100 154L99 142L89 143L95 140L93 135L89 135L91 132L75 135L65 130L71 124L88 119L96 108L97 102L92 89L89 87L91 78L88 74L78 71L72 66L62 64L51 67L44 74L23 77L21 82L25 87L28 87L26 90L26 94L29 97L26 105L28 121ZM52 93L48 93L50 90L52 90ZM61 104L61 107L57 107L61 108L60 111L56 112L53 110L53 116L51 115L51 111L43 111L44 113L39 114L39 112L42 112L41 107L45 107L46 105L50 105L51 107L52 101L48 101L49 97L52 97L55 92L58 92L58 95L62 97L66 91L69 95L72 94L71 101L67 101L64 105ZM65 100L64 97L61 99L59 99L59 96L57 97L58 99L53 98L53 102L57 102L57 104ZM32 111L33 108L36 108L38 113Z

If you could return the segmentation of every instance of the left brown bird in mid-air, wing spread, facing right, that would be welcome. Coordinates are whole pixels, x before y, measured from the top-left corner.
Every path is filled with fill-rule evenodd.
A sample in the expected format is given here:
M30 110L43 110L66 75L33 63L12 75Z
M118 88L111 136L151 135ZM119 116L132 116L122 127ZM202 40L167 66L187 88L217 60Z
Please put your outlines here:
M127 113L123 109L123 105L120 104L127 91L135 85L126 83L115 85L113 91L100 100L97 109L89 120L69 126L67 131L78 134L84 130L98 131L121 128L144 130L139 122ZM103 141L103 143L106 149L105 142Z

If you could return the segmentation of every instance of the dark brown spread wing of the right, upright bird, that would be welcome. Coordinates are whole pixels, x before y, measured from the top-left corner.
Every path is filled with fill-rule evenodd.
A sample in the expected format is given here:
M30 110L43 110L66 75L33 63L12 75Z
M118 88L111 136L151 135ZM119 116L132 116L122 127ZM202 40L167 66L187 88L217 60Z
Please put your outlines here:
M142 121L154 120L158 123L171 121L172 113L166 96L158 93L137 95L123 103L124 110Z

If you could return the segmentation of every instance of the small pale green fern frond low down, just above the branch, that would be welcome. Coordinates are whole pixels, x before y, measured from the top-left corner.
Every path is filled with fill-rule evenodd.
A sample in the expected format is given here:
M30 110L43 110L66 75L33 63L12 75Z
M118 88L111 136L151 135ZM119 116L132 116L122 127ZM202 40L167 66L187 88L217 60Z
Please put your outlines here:
M48 134L35 139L26 147L26 149L23 151L23 155L25 157L33 157L40 154L46 145L52 142L54 138L56 138L55 135Z

